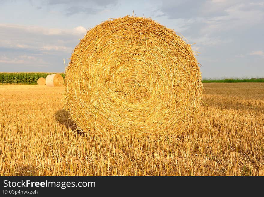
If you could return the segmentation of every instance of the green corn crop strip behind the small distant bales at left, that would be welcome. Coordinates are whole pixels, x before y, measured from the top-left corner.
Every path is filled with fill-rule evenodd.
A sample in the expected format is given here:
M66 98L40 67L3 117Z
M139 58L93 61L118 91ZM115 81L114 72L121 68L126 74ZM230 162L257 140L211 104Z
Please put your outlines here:
M46 78L49 74L55 73L38 73L38 72L18 72L18 73L0 73L0 84L24 84L37 85L39 78ZM60 73L64 78L64 73Z

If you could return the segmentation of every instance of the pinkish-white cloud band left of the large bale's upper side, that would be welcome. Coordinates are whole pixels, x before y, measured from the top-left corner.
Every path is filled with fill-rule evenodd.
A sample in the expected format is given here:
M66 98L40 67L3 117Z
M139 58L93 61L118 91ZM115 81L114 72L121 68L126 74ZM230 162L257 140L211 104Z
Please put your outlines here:
M55 29L17 24L0 24L0 47L20 50L72 53L87 32L82 26Z

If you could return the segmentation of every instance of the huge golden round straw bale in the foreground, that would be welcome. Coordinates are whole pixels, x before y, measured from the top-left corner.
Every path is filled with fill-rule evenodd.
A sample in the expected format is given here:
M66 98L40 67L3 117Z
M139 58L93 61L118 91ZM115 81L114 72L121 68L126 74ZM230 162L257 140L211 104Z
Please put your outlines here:
M190 45L142 17L89 30L72 53L65 82L65 108L89 134L179 134L202 93Z

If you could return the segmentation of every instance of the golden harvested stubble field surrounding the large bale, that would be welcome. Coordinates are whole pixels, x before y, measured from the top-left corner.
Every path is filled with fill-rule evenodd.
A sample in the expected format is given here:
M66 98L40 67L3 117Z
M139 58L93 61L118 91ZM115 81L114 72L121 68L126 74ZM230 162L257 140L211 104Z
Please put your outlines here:
M0 174L264 175L264 83L205 83L193 126L171 136L91 137L64 87L0 86Z

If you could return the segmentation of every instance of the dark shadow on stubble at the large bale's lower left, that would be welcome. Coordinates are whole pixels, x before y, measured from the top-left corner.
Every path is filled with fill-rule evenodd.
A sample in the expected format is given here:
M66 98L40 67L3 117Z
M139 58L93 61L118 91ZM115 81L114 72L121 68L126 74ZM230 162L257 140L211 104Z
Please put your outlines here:
M83 134L83 132L78 129L76 123L70 119L70 113L66 110L58 110L54 114L55 120L61 125L66 126L68 129L72 131L76 131L78 134Z

